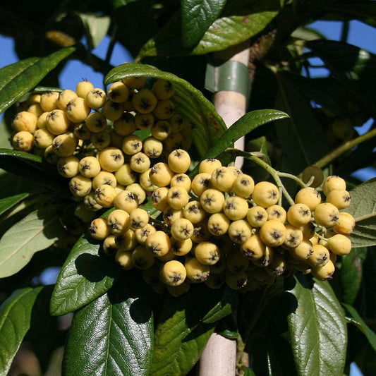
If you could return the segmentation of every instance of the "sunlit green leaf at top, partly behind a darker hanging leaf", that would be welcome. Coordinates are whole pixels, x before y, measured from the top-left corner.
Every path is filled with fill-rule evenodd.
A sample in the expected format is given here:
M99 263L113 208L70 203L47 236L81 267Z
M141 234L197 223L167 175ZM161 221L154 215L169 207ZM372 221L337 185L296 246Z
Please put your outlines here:
M197 46L193 49L187 49L183 47L181 40L181 15L176 13L155 37L144 44L138 58L144 56L202 55L221 51L258 34L276 15L276 11L261 11L260 13L242 16L218 18L205 32Z

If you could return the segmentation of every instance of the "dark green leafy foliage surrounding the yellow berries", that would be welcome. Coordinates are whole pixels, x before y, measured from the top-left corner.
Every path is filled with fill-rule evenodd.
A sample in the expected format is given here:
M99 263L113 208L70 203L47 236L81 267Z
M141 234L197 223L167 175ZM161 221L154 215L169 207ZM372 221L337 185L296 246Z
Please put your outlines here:
M13 38L20 60L0 69L0 375L11 370L23 343L32 344L43 370L54 365L51 350L65 343L68 376L187 375L214 331L250 353L249 364L238 358L243 375L342 376L353 361L375 375L376 365L366 360L376 350L376 181L360 184L351 174L376 164L375 126L360 137L357 130L375 119L376 59L346 43L349 20L376 26L374 2L24 3L0 7L0 32ZM307 27L325 19L344 24L341 41ZM86 43L79 42L84 36ZM93 50L104 37L107 56L99 59ZM116 43L134 63L111 66ZM249 112L227 130L205 88L205 68L207 61L219 66L227 49L241 43L251 52ZM328 77L315 76L312 57L323 61ZM355 249L339 257L334 279L296 273L267 289L213 292L195 285L174 298L150 292L132 272L124 277L73 215L56 169L40 156L9 150L15 109L28 92L59 87L59 73L73 59L102 73L104 87L145 75L174 83L176 104L193 124L187 138L194 162L257 154L267 171L272 165L298 176L315 164L326 176L341 174L353 187L344 211L356 219ZM234 142L243 135L245 150L237 152ZM243 171L267 178L251 158ZM285 186L291 195L298 189L293 181ZM145 208L160 214L150 202ZM50 287L41 282L48 267L61 268ZM73 322L61 329L56 316L67 313Z

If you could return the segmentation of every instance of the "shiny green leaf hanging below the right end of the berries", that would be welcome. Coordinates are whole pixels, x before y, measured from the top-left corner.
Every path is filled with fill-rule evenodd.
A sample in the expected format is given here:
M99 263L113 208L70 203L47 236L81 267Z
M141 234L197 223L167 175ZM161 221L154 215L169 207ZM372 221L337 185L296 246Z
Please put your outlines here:
M346 359L344 310L327 281L296 278L289 291L296 310L288 316L293 357L298 375L342 376Z

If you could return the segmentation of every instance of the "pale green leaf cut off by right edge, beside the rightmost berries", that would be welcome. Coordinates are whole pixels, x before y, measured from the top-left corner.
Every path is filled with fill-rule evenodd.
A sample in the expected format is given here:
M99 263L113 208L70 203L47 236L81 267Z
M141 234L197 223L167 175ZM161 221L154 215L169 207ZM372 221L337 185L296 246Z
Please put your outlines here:
M352 189L351 204L344 212L356 220L350 235L353 248L376 245L376 178L372 178Z

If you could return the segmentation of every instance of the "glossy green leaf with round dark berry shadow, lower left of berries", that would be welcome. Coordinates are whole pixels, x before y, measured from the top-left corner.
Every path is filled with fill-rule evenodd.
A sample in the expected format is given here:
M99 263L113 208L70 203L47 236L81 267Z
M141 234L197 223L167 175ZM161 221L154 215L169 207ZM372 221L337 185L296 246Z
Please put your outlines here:
M119 278L121 269L114 258L103 254L102 243L88 234L75 243L56 281L50 303L51 315L78 310L106 293Z

